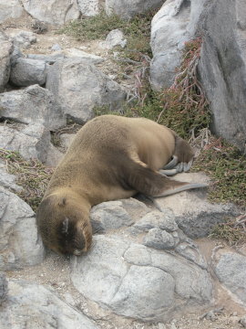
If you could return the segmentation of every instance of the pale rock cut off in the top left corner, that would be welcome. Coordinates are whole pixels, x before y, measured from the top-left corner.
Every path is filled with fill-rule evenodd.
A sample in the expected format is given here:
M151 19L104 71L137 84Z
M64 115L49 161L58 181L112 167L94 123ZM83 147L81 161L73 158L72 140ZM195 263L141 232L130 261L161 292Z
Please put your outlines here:
M9 18L18 18L22 16L23 7L18 0L1 0L0 3L0 23Z

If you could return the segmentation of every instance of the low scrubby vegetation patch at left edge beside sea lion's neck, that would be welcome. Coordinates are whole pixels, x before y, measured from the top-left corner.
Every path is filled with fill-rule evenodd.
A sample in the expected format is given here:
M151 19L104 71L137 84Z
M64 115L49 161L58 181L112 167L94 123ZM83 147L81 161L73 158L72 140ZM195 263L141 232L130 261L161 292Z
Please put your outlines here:
M36 211L54 170L47 168L36 159L26 161L17 152L2 148L0 148L0 159L5 161L7 172L16 175L16 184L23 187L17 195Z

